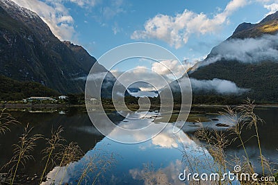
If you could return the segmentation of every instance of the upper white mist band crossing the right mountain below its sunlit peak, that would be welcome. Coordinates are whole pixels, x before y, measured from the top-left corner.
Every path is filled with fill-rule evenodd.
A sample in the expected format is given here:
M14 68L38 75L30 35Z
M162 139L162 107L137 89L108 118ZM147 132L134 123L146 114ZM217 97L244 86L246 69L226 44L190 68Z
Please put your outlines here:
M236 60L243 63L263 61L278 62L278 35L263 35L259 38L229 39L211 51L210 58L193 67L197 69L219 60Z

